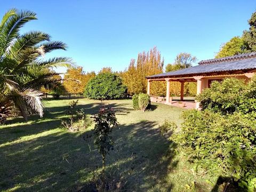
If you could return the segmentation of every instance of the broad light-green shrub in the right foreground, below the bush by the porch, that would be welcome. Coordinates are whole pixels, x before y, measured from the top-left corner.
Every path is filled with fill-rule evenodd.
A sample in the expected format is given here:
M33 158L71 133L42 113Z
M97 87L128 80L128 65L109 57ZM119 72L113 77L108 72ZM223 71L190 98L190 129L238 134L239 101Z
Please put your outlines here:
M183 113L182 131L172 139L190 161L214 175L250 181L256 178L256 119L234 113L222 115L210 110Z

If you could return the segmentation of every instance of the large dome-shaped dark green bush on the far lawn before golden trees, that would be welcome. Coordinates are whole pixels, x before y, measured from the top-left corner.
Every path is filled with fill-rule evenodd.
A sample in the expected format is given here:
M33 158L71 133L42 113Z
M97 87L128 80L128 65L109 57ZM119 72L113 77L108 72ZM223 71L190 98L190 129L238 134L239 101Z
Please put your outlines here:
M119 99L125 96L126 86L115 74L101 73L92 78L85 87L84 95L89 99Z

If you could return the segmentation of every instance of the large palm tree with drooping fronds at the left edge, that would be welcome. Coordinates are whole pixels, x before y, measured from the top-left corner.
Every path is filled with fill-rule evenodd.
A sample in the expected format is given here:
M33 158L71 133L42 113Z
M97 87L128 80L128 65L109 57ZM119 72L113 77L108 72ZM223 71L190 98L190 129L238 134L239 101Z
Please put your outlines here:
M0 107L7 110L15 106L25 119L30 111L43 116L39 90L42 86L51 88L60 84L53 67L73 65L65 57L44 59L46 53L66 50L65 43L51 41L51 36L42 31L20 34L25 23L36 19L34 12L11 9L0 23ZM0 110L0 122L1 113ZM5 111L3 117L5 114L8 113Z

